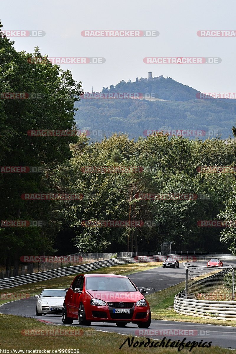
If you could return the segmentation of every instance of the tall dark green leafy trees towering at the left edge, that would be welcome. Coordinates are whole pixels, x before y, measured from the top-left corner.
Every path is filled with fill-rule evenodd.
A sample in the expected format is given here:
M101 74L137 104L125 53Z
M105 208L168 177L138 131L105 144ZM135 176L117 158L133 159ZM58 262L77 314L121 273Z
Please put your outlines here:
M1 30L0 23L0 30ZM77 137L30 137L33 129L67 130L74 125L74 103L83 93L81 82L76 83L70 70L63 71L42 56L39 48L34 53L17 52L13 42L0 32L0 91L27 93L26 99L1 99L1 166L44 166L61 163L71 155L70 143ZM39 60L44 58L45 60ZM40 98L33 98L35 97ZM39 95L38 95L39 94ZM42 190L42 188L45 188ZM18 261L22 253L50 252L57 232L50 202L24 201L23 193L51 192L39 173L3 174L0 177L2 220L44 220L46 227L5 228L1 230L0 257ZM40 203L40 202L39 202ZM44 204L45 203L45 204ZM40 219L39 219L40 217Z

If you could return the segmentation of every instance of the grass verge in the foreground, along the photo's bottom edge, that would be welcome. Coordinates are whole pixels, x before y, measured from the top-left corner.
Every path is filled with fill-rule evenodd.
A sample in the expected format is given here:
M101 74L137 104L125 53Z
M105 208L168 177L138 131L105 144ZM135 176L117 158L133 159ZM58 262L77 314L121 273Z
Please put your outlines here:
M93 331L92 328L82 328L79 326L52 326L46 325L33 318L25 318L13 315L0 315L1 333L0 333L0 349L10 350L80 350L81 354L111 354L127 352L136 353L160 353L160 354L174 354L178 353L177 348L133 348L124 344L121 349L120 346L128 336L122 336L117 333L98 332ZM31 335L24 335L27 331ZM58 335L62 331L71 331L70 333L77 333L79 335ZM37 335L32 335L32 331L37 331ZM43 332L39 332L43 331ZM47 331L47 332L46 332ZM50 331L54 331L53 334ZM35 332L33 332L35 333ZM51 333L51 335L39 335L42 333ZM57 333L57 335L56 335ZM68 332L67 332L68 333ZM132 336L129 336L132 338ZM182 338L181 338L182 339ZM146 342L146 338L135 337L134 342ZM155 340L156 342L157 340ZM3 353L3 352L2 352ZM6 352L5 352L6 353ZM14 353L14 352L13 352ZM43 352L42 352L43 353ZM65 353L65 352L64 352ZM68 353L68 351L67 351ZM181 350L181 353L189 353L189 349ZM236 350L222 349L219 347L211 348L194 348L191 353L195 354L236 354Z

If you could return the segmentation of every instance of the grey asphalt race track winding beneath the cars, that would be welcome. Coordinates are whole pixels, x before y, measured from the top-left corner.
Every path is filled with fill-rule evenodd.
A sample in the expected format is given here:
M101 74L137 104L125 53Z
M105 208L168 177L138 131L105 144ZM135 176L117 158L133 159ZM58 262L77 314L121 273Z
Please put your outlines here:
M196 264L188 262L189 264ZM235 262L229 261L223 262L224 267L226 263L231 265L236 265ZM206 262L197 262L198 265L206 265ZM209 268L209 271L211 268ZM185 280L185 269L180 263L180 268L168 269L157 267L143 272L134 273L129 275L129 278L138 286L139 288L145 289L147 293L156 292L163 290L169 286L176 285ZM69 287L69 284L68 286ZM8 302L0 307L0 312L2 314L12 314L12 315L24 315L27 317L35 316L36 299L28 298L17 300L13 302ZM61 316L59 315L46 315L38 316L40 320L46 320L53 324L63 325ZM64 326L64 325L63 325ZM73 325L77 326L77 321L74 321ZM103 322L93 322L90 326L91 329L106 331L106 332L118 332L124 335L134 335L134 336L144 336L150 337L152 339L161 339L163 337L171 338L173 341L183 338L187 338L185 342L197 341L203 342L212 341L211 345L217 345L223 348L233 348L236 349L236 327L230 326L216 326L216 325L206 325L188 322L175 322L175 321L163 321L163 320L152 320L151 326L148 329L139 329L136 324L127 324L125 327L117 327L115 324L106 324ZM161 332L163 330L172 330L171 335L166 335L167 332ZM180 332L177 333L175 330ZM182 330L182 331L181 331ZM190 332L189 335L184 335L183 330L194 331ZM145 332L143 332L145 331ZM175 335L174 335L175 334ZM125 341L126 337L124 337ZM122 342L121 342L122 344ZM127 346L127 344L125 344Z

